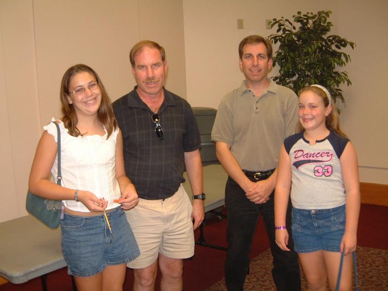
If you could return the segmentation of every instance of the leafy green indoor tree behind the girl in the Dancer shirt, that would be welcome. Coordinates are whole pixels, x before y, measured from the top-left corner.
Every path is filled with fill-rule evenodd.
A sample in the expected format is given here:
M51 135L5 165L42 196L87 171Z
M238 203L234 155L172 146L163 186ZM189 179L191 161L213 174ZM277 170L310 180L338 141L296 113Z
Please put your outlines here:
M298 11L293 22L281 17L270 21L271 28L277 25L276 33L268 36L279 47L273 58L274 66L279 65L279 75L273 79L279 85L286 86L298 94L299 90L320 84L331 93L334 101L345 99L339 85L352 84L346 71L339 67L350 62L349 54L342 51L355 43L338 35L328 35L333 24L328 21L331 11L319 11L317 14Z

